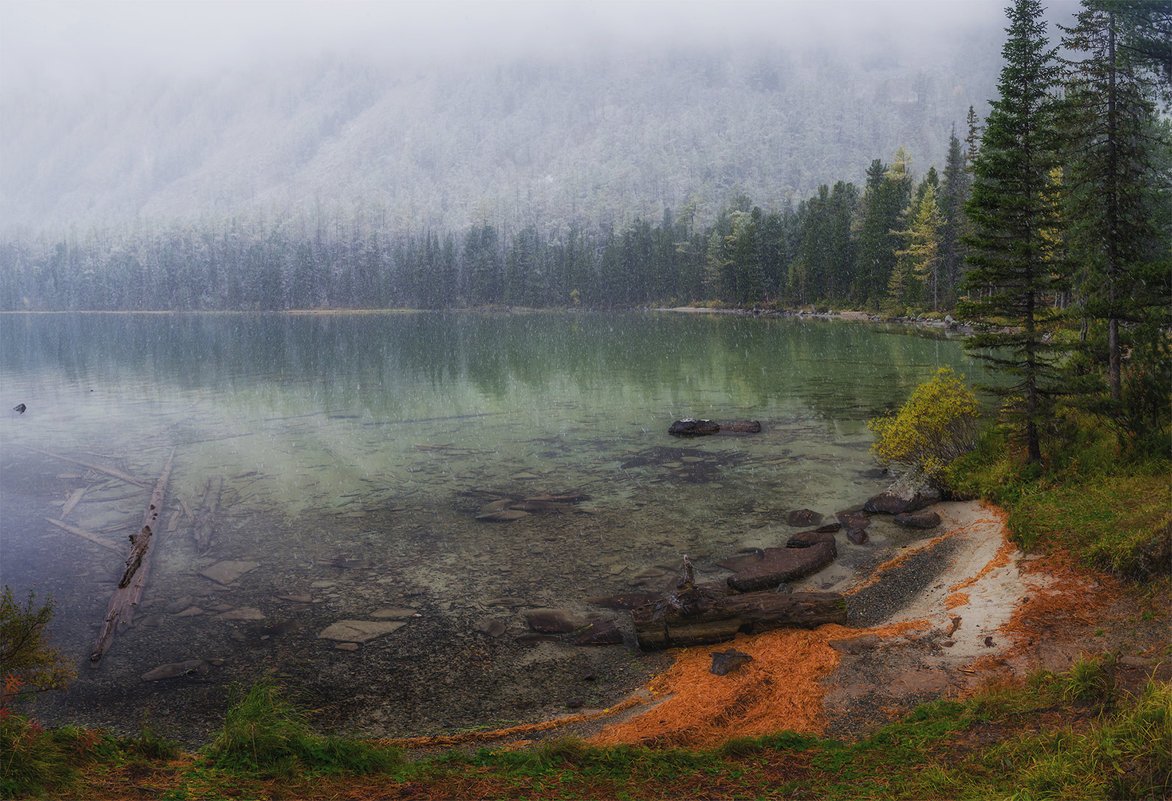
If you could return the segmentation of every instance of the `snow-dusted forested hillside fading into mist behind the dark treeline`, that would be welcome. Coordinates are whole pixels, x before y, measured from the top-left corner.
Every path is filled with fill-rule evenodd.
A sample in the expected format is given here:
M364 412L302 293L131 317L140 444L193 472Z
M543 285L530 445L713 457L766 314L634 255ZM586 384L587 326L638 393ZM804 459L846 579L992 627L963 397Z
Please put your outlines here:
M279 216L396 232L625 224L797 203L899 147L922 172L993 91L1000 22L954 41L660 46L429 70L274 60L107 90L6 87L9 235Z

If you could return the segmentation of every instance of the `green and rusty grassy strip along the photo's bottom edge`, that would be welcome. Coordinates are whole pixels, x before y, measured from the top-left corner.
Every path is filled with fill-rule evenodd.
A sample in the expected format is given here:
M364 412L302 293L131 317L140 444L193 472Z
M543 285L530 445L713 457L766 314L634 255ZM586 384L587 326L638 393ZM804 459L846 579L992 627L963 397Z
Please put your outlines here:
M268 684L197 754L4 721L4 795L59 799L1145 799L1172 792L1172 690L1111 658L942 700L856 744L781 733L710 751L557 740L409 759L314 734Z

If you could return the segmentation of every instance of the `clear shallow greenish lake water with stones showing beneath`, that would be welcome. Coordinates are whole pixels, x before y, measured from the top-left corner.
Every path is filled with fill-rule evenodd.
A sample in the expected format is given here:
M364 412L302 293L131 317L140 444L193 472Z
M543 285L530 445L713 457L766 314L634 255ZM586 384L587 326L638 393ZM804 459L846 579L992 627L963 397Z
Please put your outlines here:
M662 658L534 636L527 610L622 624L588 599L661 589L684 554L727 576L789 510L884 488L866 420L938 367L982 378L959 340L669 313L5 314L0 344L0 575L52 596L79 672L38 712L192 741L266 674L370 734L611 704ZM688 416L763 430L670 436ZM144 600L90 667L172 453ZM483 518L550 495L572 500ZM907 536L870 532L804 585ZM340 620L388 631L320 636Z

